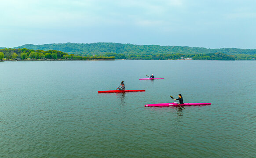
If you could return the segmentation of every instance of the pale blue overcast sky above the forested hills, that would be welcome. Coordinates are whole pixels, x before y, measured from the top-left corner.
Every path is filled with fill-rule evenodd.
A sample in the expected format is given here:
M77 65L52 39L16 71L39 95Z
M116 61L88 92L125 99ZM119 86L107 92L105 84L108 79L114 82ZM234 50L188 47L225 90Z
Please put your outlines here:
M0 0L0 47L67 42L256 49L256 0Z

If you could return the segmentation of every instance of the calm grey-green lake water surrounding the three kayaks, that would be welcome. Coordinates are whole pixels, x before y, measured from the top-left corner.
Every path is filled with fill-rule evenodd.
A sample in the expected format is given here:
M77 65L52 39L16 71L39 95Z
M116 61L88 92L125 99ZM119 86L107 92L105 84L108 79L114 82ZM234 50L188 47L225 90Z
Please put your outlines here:
M139 80L154 73L158 80ZM98 93L115 90L145 92ZM211 102L145 108L145 104ZM256 157L256 61L0 62L0 157Z

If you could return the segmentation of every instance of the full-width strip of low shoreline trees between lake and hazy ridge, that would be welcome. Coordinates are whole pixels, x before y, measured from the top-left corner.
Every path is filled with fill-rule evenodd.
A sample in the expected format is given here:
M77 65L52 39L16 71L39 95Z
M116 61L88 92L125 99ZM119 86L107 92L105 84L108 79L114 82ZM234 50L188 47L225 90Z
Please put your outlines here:
M30 50L27 48L4 48L0 50L0 61L66 61L66 60L255 60L256 54L228 55L220 52L208 54L117 54L105 53L97 55L67 54L59 50Z

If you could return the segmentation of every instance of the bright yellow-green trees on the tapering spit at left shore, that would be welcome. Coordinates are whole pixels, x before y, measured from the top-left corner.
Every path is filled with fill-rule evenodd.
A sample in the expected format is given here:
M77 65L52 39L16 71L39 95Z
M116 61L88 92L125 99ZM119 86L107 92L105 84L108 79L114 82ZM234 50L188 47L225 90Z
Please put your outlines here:
M29 50L26 48L5 48L0 50L0 60L15 60L19 58L20 60L34 59L34 60L45 60L45 59L65 59L65 60L100 60L100 59L110 59L113 60L113 56L102 56L102 55L86 55L79 56L75 54L67 54L59 50Z

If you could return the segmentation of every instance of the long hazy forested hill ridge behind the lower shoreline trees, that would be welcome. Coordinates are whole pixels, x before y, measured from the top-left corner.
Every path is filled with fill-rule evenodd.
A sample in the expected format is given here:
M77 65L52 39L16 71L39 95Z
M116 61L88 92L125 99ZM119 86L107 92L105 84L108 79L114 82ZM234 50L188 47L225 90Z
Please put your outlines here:
M27 48L33 50L59 50L68 54L80 55L99 55L106 53L116 54L210 54L224 53L228 55L234 54L256 54L256 49L238 49L238 48L221 48L207 49L202 47L182 47L182 46L159 46L159 45L135 45L121 43L58 43L33 45L26 44L17 48Z

